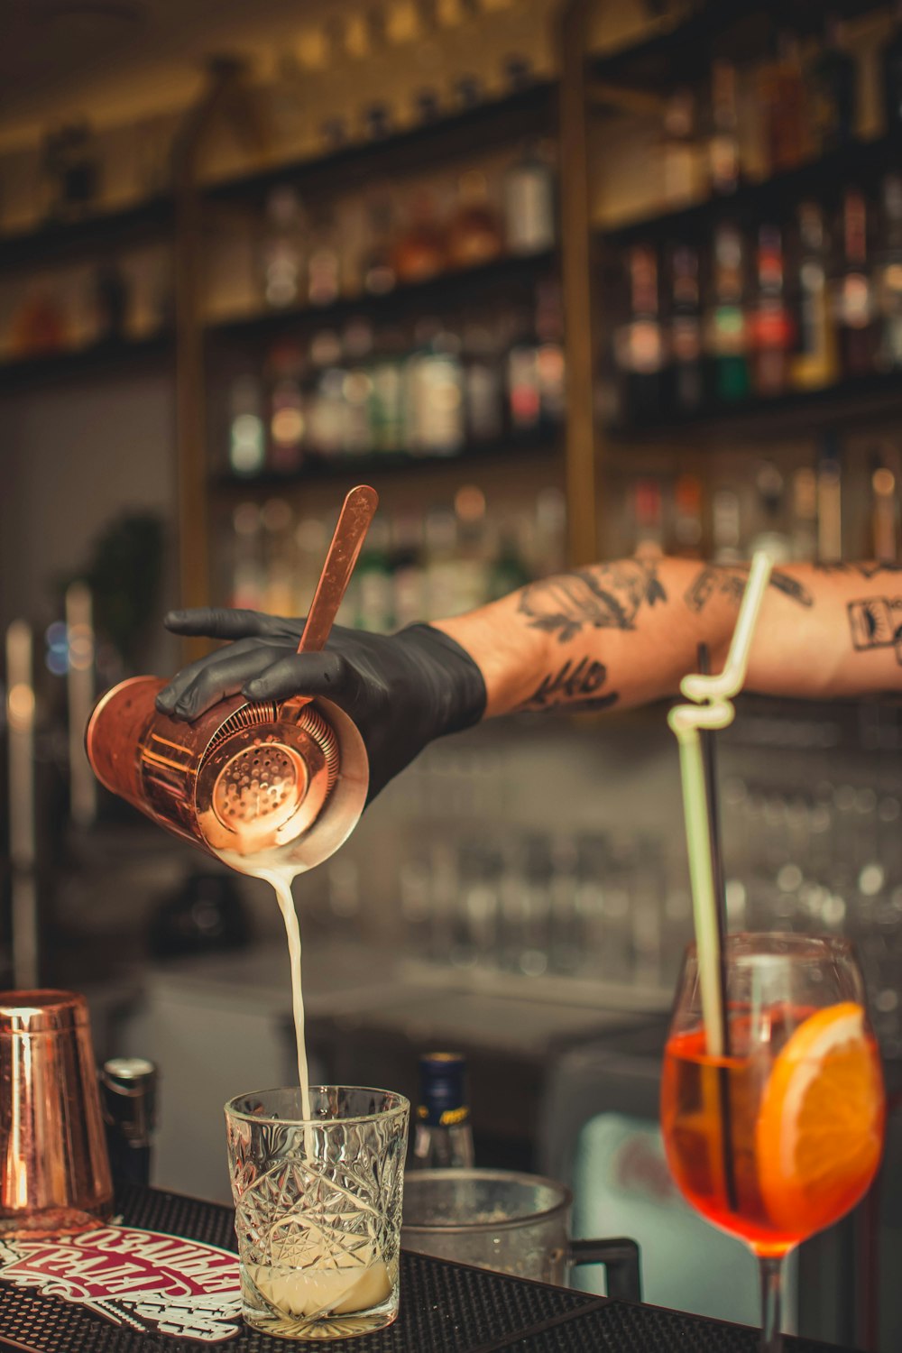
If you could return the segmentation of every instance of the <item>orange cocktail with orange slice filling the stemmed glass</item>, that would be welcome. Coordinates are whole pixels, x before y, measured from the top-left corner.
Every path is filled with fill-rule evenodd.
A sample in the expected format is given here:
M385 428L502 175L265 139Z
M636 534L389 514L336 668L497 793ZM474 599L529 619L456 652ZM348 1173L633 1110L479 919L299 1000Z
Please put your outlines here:
M867 1192L880 1161L883 1082L853 1001L775 1012L768 1034L752 1045L749 1015L733 1012L732 1055L718 1058L706 1053L703 1030L673 1034L661 1127L692 1207L756 1254L778 1256Z

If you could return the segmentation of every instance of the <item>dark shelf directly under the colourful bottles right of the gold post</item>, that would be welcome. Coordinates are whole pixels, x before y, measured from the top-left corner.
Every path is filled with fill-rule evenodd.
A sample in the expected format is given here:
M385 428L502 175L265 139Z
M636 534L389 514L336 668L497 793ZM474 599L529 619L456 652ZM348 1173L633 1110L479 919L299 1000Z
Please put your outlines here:
M687 440L703 442L715 436L799 436L806 432L855 430L902 411L902 372L875 372L844 380L824 390L790 391L772 399L746 399L732 407L703 413L668 414L642 425L613 425L606 436L613 444L649 444Z

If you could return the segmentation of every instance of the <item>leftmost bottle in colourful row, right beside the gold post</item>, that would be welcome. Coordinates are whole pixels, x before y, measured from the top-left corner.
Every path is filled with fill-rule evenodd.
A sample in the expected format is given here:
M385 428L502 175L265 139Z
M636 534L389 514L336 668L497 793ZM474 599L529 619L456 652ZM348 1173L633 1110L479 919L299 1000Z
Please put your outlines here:
M623 380L623 405L632 422L649 422L663 409L664 333L660 321L657 254L632 245L626 256L629 319L614 336Z

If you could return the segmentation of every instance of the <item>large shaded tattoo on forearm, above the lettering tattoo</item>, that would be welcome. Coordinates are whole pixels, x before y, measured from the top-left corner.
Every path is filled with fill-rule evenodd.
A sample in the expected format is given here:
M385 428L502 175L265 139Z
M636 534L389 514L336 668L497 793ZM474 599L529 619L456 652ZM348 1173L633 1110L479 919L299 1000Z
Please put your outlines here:
M636 629L640 607L659 601L667 601L667 593L655 563L625 559L529 583L517 609L533 629L567 644L583 629Z

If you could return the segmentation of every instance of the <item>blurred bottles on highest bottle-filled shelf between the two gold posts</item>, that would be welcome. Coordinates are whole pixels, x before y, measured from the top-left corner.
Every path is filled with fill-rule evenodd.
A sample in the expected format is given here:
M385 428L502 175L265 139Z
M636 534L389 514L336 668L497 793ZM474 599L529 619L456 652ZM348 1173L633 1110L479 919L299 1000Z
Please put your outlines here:
M383 187L366 198L306 206L285 181L257 219L258 303L327 306L342 295L381 296L502 256L550 249L556 238L549 141L529 143L490 173ZM234 258L230 260L234 267Z

